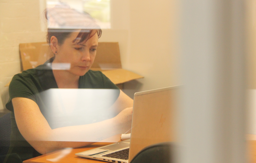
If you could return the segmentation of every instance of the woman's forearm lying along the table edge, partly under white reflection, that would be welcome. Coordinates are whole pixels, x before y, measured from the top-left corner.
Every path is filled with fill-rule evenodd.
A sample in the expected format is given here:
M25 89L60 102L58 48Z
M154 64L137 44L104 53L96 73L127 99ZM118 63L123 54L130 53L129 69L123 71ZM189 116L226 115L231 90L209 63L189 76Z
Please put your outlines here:
M45 154L65 147L87 146L120 133L122 129L112 118L93 124L53 129L44 137L41 135L41 140L28 140L28 142L39 153Z

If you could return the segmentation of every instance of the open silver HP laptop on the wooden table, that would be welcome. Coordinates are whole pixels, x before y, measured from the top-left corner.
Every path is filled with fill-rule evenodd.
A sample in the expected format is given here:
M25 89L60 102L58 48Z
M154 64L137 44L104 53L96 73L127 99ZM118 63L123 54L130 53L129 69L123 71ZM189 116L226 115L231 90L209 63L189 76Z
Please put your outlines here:
M130 139L75 155L107 162L128 163L149 145L175 141L178 88L179 86L173 86L135 93Z

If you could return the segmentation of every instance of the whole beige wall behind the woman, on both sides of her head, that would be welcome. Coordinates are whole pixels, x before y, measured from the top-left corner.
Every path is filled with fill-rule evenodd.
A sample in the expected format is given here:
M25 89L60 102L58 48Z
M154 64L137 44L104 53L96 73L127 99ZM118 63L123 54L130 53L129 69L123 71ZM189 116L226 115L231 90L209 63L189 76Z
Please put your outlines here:
M4 85L20 72L18 45L45 41L40 4L43 0L0 1L0 94L4 104L9 98ZM124 85L129 96L179 84L175 9L170 0L111 1L112 29L104 29L99 41L118 41L123 68L145 77Z

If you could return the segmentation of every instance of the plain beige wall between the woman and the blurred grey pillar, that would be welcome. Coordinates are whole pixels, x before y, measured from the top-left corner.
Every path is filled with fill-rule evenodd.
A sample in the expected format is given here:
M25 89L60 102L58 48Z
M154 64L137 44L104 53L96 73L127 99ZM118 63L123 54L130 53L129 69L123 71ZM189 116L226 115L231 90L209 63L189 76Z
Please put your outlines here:
M180 84L175 0L112 0L111 7L113 28L100 41L118 41L123 68L145 77L125 83L124 92Z

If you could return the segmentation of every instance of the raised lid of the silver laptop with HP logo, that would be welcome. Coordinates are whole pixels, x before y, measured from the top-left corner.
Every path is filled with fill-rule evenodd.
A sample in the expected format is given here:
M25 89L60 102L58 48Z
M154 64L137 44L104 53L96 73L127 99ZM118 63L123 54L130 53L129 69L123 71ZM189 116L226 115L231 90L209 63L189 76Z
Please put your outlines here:
M179 87L134 94L129 162L149 145L176 140L175 115Z

